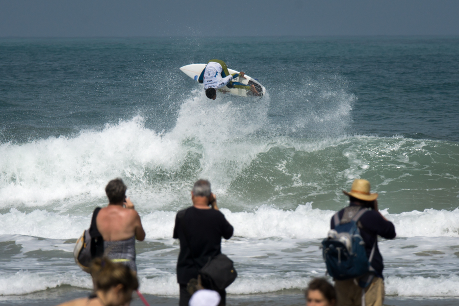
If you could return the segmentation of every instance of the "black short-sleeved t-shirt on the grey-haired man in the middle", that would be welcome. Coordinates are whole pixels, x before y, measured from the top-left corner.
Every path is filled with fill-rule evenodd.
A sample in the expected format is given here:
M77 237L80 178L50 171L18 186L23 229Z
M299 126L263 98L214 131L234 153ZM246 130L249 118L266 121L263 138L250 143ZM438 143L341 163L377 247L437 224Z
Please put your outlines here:
M179 216L185 211L184 224L181 224ZM180 211L175 216L174 236L180 240L179 260L177 260L177 283L187 284L191 278L197 278L197 273L210 257L221 253L221 237L230 239L233 236L233 226L226 221L225 216L214 209L197 209L189 207ZM190 254L190 246L185 238L187 232L188 241L193 250Z

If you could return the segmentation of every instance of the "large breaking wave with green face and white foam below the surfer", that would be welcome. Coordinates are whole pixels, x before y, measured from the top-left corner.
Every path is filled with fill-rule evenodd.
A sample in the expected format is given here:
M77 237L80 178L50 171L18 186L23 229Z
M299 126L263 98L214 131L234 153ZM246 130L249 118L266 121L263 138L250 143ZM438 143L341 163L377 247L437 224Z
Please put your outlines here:
M2 144L2 207L88 213L106 201L105 184L117 176L144 212L188 206L192 184L200 177L212 182L220 205L233 212L261 205L294 210L307 202L338 210L346 203L342 190L359 177L371 182L379 207L390 213L457 207L455 142L376 136L268 139L250 129L224 138L217 135L225 129L206 129L201 122L193 130L188 119L165 134L146 129L136 118L74 138Z

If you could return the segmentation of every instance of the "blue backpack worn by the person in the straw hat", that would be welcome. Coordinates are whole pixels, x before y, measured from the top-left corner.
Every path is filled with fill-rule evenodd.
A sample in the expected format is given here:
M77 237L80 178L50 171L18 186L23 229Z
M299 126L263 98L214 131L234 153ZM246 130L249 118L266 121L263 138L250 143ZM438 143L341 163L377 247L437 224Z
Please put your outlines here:
M327 266L327 272L335 279L343 281L350 278L361 278L359 286L367 287L374 276L370 263L373 259L376 241L367 257L365 242L360 236L358 221L368 211L366 208L350 206L344 209L340 220L338 213L335 220L335 230L328 232L322 240L322 256ZM366 276L366 277L361 277ZM368 277L370 276L370 277Z

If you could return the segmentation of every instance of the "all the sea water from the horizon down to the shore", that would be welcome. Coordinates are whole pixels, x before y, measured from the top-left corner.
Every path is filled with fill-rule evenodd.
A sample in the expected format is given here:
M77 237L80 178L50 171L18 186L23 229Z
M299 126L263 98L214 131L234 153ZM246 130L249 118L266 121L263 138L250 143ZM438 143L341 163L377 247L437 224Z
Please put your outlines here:
M211 58L267 94L207 99L179 67ZM287 305L325 274L320 241L362 178L396 227L389 301L455 304L458 58L457 37L0 40L0 303L89 291L73 245L121 177L156 303L176 303L173 222L197 179L235 227L228 301Z

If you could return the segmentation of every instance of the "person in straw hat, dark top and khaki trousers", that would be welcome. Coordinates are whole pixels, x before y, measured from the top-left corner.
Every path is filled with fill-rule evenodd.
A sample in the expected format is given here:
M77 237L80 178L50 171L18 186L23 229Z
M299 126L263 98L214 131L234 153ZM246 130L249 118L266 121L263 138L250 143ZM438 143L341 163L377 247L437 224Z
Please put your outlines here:
M349 206L331 218L330 227L334 230L338 224L349 222L354 216L361 214L360 218L357 217L357 225L365 242L371 272L361 278L335 280L338 303L341 306L380 306L384 301L384 278L382 277L384 264L379 253L377 236L393 239L396 235L395 227L378 211L376 200L378 194L370 193L370 182L354 180L351 191L343 190L343 192L349 197ZM367 287L363 289L360 286L365 286L364 283Z

